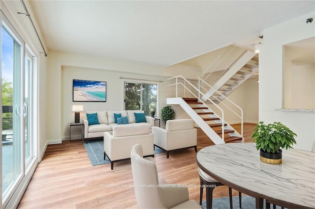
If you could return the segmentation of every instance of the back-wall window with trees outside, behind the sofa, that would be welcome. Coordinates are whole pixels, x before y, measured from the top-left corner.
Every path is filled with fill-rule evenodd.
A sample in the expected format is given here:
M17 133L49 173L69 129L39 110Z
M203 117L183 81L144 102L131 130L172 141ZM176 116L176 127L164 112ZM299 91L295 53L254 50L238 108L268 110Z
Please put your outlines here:
M125 110L143 110L146 116L157 115L157 83L125 81Z

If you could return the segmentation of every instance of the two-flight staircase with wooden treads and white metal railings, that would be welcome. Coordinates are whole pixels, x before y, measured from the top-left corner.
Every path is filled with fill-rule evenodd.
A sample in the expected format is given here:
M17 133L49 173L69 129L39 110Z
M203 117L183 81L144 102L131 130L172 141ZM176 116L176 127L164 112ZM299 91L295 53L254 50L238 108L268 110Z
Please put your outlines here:
M168 78L175 79L169 86L176 86L176 97L167 98L166 104L180 105L215 144L243 141L243 110L226 96L257 71L256 53L230 45L221 49L219 57L201 77L197 77L196 85L182 76ZM241 134L224 121L222 108L240 118Z

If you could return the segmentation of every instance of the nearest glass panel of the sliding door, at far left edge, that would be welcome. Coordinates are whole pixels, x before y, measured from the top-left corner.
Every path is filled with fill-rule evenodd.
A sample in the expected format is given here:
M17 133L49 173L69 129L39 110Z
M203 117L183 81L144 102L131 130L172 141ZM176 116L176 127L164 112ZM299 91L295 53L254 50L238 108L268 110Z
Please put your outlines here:
M22 44L5 27L1 27L2 106L2 199L6 199L23 177ZM2 107L3 110L3 107ZM10 124L11 123L11 124Z

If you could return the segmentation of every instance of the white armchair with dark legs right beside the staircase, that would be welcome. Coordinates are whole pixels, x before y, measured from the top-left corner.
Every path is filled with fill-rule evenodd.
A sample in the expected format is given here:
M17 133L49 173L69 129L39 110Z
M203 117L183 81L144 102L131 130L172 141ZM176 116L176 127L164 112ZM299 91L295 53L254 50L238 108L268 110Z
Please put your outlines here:
M169 152L184 148L194 148L197 152L197 130L193 128L193 120L177 119L166 121L165 129L152 127L154 145Z

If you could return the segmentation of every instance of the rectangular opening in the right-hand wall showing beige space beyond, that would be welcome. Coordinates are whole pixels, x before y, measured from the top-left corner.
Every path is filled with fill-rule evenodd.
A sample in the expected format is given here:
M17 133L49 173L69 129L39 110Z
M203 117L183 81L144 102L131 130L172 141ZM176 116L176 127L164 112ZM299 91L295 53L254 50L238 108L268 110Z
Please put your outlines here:
M315 109L315 37L283 47L283 108Z

